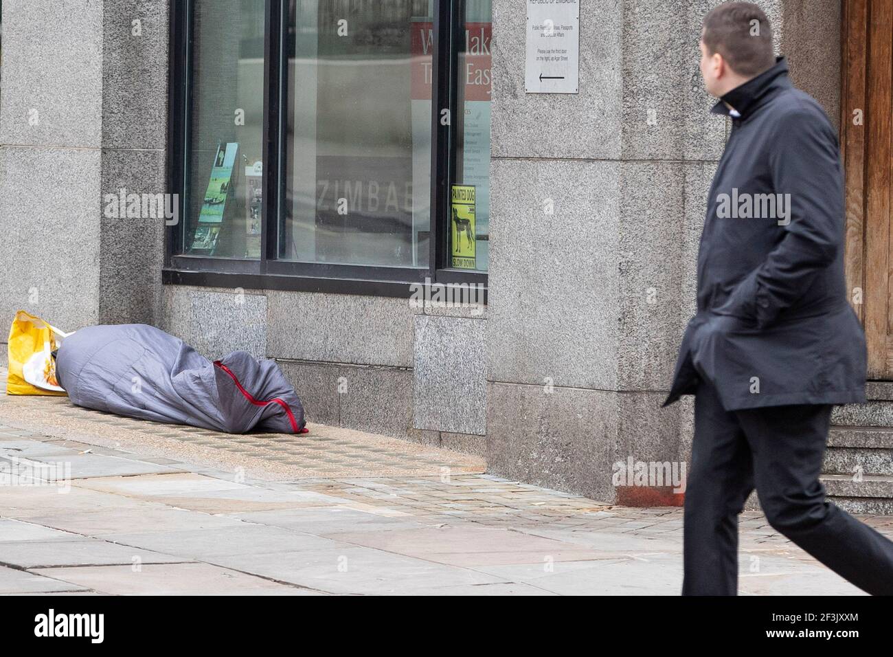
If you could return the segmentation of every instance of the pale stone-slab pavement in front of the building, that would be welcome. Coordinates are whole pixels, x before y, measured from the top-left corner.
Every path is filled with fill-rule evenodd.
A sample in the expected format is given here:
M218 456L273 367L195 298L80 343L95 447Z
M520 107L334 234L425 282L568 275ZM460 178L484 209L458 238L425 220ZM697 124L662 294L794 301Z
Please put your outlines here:
M332 427L280 442L230 436L248 442L221 456L151 433L182 427L117 426L131 421L37 399L0 401L3 594L680 591L679 508L611 506L482 474L469 455ZM313 436L328 440L307 447ZM271 446L295 448L290 474L267 464L282 452ZM893 533L893 518L865 520ZM758 512L742 515L740 563L742 594L861 593Z

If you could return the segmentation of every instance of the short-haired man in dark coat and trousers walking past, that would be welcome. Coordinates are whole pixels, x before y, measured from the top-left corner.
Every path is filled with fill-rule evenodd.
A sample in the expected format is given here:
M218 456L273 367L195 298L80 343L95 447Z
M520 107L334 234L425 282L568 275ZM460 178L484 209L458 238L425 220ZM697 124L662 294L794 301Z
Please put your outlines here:
M893 543L825 501L832 404L864 401L865 341L844 282L843 178L822 108L788 79L755 4L708 13L705 87L731 117L697 257L697 315L664 406L695 394L682 594L738 591L738 514L871 594L893 594Z

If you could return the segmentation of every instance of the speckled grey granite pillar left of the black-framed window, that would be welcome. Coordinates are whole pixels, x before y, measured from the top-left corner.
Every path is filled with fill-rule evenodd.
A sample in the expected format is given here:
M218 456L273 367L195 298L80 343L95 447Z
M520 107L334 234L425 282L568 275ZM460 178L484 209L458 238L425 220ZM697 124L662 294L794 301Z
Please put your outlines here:
M103 200L165 191L167 21L149 0L3 3L0 316L159 320L163 222Z

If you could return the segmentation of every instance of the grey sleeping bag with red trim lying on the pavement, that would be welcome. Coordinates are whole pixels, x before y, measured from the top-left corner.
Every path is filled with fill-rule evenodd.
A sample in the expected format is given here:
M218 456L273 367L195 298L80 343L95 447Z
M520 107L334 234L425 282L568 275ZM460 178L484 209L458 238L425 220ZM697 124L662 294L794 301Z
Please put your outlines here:
M212 363L146 324L72 333L56 374L71 403L88 409L230 434L306 431L301 400L275 362L233 351Z

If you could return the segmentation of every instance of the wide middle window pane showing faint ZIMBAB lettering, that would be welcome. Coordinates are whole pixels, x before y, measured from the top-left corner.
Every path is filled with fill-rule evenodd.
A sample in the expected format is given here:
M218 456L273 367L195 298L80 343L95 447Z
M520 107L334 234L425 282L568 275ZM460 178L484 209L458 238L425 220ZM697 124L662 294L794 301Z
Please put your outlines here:
M280 257L428 265L432 5L292 4Z

